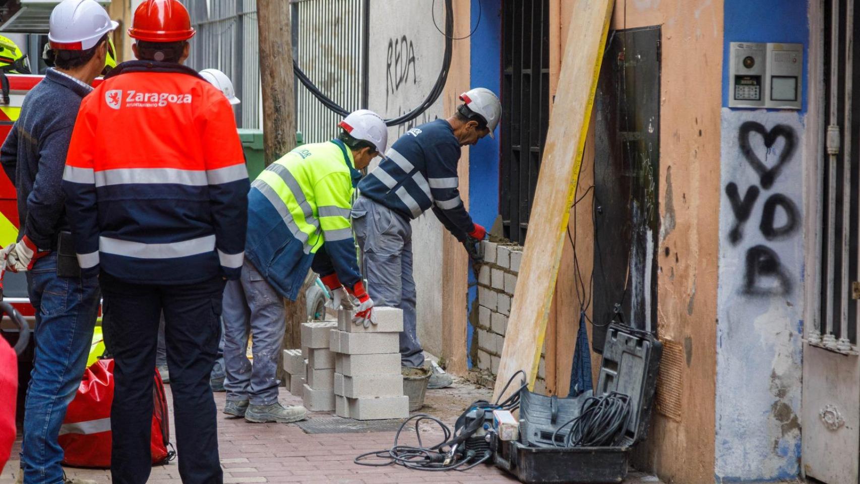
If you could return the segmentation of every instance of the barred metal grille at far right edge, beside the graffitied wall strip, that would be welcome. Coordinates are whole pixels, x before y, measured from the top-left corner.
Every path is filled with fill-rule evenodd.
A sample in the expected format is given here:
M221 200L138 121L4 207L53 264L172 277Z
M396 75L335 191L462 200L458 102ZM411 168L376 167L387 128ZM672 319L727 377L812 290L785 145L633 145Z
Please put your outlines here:
M825 3L825 106L821 123L826 143L820 151L818 191L820 217L816 246L820 266L815 277L820 307L808 342L829 350L857 353L860 323L860 265L858 265L858 199L860 192L860 96L852 95L853 81L860 79L860 63L854 61L853 39L860 30L854 22L854 0ZM847 14L847 15L846 15ZM824 126L827 126L826 128ZM832 133L832 134L831 134Z

